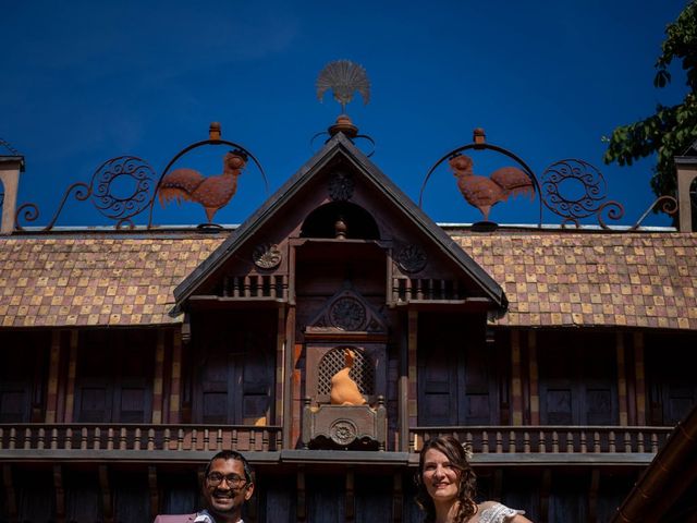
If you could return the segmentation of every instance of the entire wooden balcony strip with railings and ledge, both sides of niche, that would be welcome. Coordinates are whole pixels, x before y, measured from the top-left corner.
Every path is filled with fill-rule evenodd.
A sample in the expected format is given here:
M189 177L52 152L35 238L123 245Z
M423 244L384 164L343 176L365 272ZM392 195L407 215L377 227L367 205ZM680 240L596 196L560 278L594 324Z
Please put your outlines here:
M416 427L409 430L408 451L414 457L425 440L453 435L470 446L475 463L482 465L632 465L651 461L671 431L672 427L619 426ZM0 461L187 462L235 449L250 453L256 462L279 462L299 452L282 447L280 426L0 424ZM333 461L346 451L334 452ZM395 453L362 453L364 461L376 462L389 461L387 454ZM415 464L414 458L408 461Z

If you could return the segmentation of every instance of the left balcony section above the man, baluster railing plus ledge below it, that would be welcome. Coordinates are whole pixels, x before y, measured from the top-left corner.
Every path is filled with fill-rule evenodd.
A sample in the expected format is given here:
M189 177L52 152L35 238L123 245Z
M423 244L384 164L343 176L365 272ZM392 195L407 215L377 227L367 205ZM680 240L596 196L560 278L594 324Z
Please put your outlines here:
M223 449L281 450L280 426L0 424L0 459L189 461Z

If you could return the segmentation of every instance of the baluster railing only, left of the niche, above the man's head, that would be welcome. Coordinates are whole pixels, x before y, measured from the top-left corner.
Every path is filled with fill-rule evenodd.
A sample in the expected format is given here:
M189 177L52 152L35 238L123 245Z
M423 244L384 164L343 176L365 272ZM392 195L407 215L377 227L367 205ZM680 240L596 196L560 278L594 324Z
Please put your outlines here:
M0 450L245 452L281 450L281 427L242 425L0 424Z

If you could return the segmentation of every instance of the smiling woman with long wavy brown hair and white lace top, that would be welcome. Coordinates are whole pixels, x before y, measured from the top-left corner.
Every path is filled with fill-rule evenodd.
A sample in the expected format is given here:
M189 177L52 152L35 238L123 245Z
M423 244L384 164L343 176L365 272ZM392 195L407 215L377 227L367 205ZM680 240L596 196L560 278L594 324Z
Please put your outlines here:
M477 476L467 452L452 436L424 443L416 477L416 503L425 523L531 523L524 512L496 501L477 504Z

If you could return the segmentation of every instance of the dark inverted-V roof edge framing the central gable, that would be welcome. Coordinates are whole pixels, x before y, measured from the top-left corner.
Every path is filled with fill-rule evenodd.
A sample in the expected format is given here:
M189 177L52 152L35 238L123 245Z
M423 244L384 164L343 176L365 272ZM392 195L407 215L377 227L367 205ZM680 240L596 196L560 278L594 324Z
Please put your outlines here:
M230 238L204 260L174 290L178 307L204 284L217 269L234 255L257 230L269 223L286 204L316 177L338 155L343 155L357 171L369 181L404 219L415 226L442 254L449 257L466 277L481 289L499 308L505 308L508 301L501 287L440 227L438 227L412 199L384 175L348 138L338 133L325 147L290 178L261 207L259 207Z

